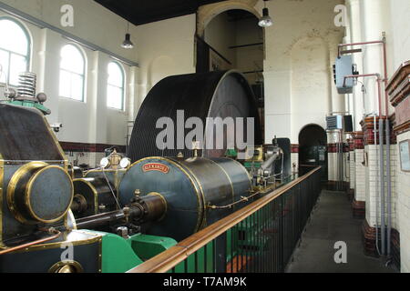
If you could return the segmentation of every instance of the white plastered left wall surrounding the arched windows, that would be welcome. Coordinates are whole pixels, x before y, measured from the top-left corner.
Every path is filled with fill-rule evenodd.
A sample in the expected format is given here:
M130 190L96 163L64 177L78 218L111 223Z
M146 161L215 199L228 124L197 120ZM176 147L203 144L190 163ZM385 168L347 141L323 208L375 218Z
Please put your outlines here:
M94 1L73 0L74 27L60 25L60 8L67 1L22 1L5 0L10 5L28 15L66 30L72 35L86 39L88 42L104 47L116 55L121 55L134 62L137 55L133 50L120 47L125 34L127 22L109 12ZM7 15L0 13L0 15ZM37 92L45 92L48 96L46 106L52 114L47 116L50 124L62 123L63 128L58 134L60 141L77 143L101 143L126 145L127 121L133 118L136 67L120 64L126 76L125 80L125 110L115 110L107 107L108 63L114 61L109 55L94 52L77 45L86 59L85 102L77 102L59 96L59 63L60 50L71 42L47 28L31 25L20 21L26 26L32 41L30 70L37 74ZM131 27L132 29L132 27ZM110 41L107 41L107 40ZM115 130L112 130L115 128Z

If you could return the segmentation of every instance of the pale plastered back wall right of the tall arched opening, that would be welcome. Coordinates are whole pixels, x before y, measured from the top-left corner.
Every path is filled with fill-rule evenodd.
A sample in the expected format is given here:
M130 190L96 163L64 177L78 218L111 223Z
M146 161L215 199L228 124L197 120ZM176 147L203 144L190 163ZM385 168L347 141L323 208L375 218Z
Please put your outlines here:
M332 75L343 38L343 29L333 22L338 4L341 1L268 2L274 25L265 30L266 136L290 136L297 144L304 125L325 128L325 115L343 110Z

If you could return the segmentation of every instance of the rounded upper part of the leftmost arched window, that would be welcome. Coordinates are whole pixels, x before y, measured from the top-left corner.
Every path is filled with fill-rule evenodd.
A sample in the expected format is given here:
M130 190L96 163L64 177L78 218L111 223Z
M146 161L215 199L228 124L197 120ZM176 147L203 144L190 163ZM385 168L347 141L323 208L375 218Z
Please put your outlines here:
M0 32L0 48L20 55L28 55L29 41L20 25L8 19L0 20Z

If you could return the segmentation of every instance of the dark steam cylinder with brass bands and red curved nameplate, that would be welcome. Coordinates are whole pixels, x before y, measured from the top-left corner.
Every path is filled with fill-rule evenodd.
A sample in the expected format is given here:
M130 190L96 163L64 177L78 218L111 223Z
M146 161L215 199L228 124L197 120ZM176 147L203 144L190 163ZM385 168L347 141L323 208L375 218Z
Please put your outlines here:
M119 185L121 206L130 206L136 195L165 200L165 212L147 233L177 241L246 206L241 197L250 194L248 172L229 158L149 157L133 164Z

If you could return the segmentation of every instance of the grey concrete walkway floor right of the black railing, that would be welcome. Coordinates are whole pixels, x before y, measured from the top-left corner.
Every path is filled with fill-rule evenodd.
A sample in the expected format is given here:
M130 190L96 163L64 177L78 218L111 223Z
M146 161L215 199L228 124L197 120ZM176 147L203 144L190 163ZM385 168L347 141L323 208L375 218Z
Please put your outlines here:
M393 273L380 259L364 256L363 220L354 219L345 193L323 191L293 254L287 273ZM347 245L347 264L336 264L336 242Z

